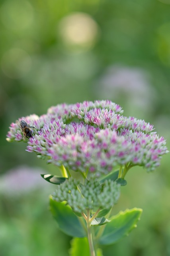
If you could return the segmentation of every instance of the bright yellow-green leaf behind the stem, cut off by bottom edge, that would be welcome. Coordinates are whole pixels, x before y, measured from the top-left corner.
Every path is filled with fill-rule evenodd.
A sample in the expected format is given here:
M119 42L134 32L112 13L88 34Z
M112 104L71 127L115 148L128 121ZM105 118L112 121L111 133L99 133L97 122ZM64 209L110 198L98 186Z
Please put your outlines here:
M90 249L88 244L88 239L84 238L77 238L74 237L71 242L71 248L69 250L70 256L90 256ZM102 249L98 248L96 252L96 256L103 256Z

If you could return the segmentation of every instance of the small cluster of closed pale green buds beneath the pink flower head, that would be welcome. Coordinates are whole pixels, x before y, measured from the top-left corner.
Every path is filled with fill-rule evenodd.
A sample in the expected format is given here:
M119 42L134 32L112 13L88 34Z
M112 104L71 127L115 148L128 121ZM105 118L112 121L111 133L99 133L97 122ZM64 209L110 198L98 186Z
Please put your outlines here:
M52 196L57 202L66 201L74 212L86 213L86 209L89 209L94 213L98 209L110 209L117 203L120 186L111 180L100 184L98 180L91 178L81 184L69 178L57 186Z

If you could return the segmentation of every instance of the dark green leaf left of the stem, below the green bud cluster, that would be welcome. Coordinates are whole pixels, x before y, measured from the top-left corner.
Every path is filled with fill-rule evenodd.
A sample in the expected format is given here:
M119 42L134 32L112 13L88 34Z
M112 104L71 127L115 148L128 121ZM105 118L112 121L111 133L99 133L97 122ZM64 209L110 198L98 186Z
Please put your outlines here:
M68 236L84 237L86 233L70 206L50 198L50 210L59 229Z

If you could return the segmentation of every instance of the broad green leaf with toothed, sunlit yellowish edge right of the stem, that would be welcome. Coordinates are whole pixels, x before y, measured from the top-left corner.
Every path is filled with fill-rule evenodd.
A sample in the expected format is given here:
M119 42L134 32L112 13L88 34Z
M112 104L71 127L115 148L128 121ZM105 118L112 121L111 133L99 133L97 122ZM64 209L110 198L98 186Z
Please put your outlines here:
M127 236L133 228L137 227L136 223L140 220L141 214L142 209L133 208L124 212L121 211L113 216L111 222L106 225L99 244L114 244L124 236Z

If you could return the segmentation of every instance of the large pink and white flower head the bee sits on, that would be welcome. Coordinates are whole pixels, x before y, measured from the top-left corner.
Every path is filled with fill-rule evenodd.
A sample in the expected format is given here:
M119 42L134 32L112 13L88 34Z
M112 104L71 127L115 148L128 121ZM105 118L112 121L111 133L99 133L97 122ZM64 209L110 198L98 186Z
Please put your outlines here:
M121 107L111 101L61 104L49 108L43 116L25 118L33 129L27 151L48 156L49 162L97 176L107 174L117 165L144 166L154 170L166 142L144 120L122 115ZM21 120L20 119L20 120ZM21 129L12 123L7 139L25 140Z

